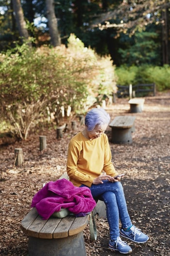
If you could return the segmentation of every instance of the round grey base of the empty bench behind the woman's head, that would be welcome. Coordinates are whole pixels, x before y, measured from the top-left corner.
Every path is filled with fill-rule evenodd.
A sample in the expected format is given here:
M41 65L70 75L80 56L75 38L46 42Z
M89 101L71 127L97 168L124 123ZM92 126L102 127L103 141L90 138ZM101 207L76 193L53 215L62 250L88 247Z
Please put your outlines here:
M112 143L131 144L132 128L112 128Z

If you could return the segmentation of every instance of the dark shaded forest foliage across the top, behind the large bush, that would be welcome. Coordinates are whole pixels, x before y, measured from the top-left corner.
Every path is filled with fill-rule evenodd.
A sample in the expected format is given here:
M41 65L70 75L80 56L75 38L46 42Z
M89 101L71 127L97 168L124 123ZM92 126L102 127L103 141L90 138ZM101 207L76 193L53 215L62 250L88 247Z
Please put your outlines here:
M34 46L50 44L46 1L21 5L28 32L36 37ZM6 51L19 41L19 33L11 1L0 0L0 6L0 51ZM98 54L110 54L117 66L170 63L170 50L164 47L170 43L169 30L164 31L170 24L168 1L72 0L54 1L53 6L65 45L74 33Z

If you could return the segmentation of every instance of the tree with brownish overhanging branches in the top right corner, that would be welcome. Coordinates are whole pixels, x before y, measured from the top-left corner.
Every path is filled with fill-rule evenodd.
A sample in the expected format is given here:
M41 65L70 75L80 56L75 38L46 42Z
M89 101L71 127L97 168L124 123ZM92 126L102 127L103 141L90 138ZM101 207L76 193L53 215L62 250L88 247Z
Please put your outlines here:
M119 38L122 34L135 35L136 31L145 31L154 24L155 32L162 38L162 63L170 64L170 0L123 0L116 8L107 7L105 12L97 14L91 29L105 30L112 38Z

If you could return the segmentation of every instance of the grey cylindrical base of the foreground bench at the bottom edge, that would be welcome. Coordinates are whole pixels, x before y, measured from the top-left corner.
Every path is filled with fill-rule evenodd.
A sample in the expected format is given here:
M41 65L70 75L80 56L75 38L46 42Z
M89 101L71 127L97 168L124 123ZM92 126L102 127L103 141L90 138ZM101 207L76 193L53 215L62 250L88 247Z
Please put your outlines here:
M29 236L28 251L29 256L86 256L83 231L58 239Z

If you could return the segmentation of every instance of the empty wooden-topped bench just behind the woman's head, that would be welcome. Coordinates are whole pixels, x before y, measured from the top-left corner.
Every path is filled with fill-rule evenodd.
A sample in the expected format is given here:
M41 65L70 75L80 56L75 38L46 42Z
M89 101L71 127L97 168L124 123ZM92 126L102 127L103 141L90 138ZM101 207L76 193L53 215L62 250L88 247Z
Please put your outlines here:
M112 128L112 143L131 144L132 132L135 132L135 118L132 116L118 116L109 124Z

